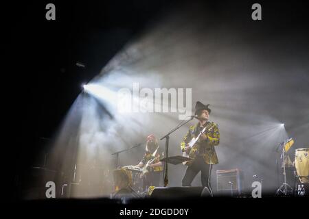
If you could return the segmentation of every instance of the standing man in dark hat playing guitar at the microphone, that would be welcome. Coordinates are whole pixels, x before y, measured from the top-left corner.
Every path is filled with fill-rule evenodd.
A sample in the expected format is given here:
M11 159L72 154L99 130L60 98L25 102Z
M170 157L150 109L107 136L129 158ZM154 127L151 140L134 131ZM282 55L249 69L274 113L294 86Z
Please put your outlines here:
M183 186L190 186L194 177L201 171L202 186L207 186L211 190L211 165L218 164L214 146L219 144L220 133L218 125L208 121L211 112L208 106L199 101L196 102L195 115L199 122L190 127L183 138L183 142L181 142L183 153L192 158L189 162L185 162L187 169L182 184Z

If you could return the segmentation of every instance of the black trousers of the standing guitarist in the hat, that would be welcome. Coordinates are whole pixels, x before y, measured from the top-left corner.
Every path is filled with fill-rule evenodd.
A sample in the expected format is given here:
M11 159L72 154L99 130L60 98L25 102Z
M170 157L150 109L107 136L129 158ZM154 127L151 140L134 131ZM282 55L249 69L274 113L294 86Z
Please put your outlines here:
M210 186L210 175L211 175L211 164L205 164L203 156L197 155L191 166L187 166L185 170L185 175L183 176L182 184L183 186L191 186L193 179L196 177L198 172L201 171L201 183L203 187Z

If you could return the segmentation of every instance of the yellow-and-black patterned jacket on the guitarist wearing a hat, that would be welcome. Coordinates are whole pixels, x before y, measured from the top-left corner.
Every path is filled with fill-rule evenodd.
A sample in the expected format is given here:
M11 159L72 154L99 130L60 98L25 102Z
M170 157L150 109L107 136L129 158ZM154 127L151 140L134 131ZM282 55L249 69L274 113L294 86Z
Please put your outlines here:
M205 132L208 138L206 140L198 140L198 142L196 142L194 146L192 146L192 149L189 153L189 157L192 158L192 161L187 162L186 165L190 166L190 164L192 164L199 150L203 150L203 157L206 164L219 163L216 149L214 146L218 145L220 142L220 133L218 125L216 123L207 122L205 126L209 125L209 123L212 123L211 128ZM184 151L185 145L189 143L192 138L198 136L199 131L197 131L197 127L198 123L196 125L192 125L189 131L187 131L185 137L183 138L183 142L181 142L181 151Z

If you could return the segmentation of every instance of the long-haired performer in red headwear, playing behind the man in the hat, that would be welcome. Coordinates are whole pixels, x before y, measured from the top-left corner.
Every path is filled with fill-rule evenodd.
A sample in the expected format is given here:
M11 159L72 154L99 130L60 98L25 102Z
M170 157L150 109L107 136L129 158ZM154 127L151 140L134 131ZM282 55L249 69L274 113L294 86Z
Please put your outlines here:
M146 152L144 154L143 159L137 165L140 168L143 168L143 189L148 189L149 186L159 186L161 172L163 170L162 162L160 159L162 158L163 153L161 153L159 149L159 144L154 135L150 135L147 137L146 142Z

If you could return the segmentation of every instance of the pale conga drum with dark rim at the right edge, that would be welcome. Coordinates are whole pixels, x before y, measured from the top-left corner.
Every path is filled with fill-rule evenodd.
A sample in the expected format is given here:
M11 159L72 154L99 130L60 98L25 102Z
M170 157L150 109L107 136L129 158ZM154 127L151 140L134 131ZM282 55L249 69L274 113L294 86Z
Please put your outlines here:
M295 150L295 168L299 181L309 183L309 149Z

